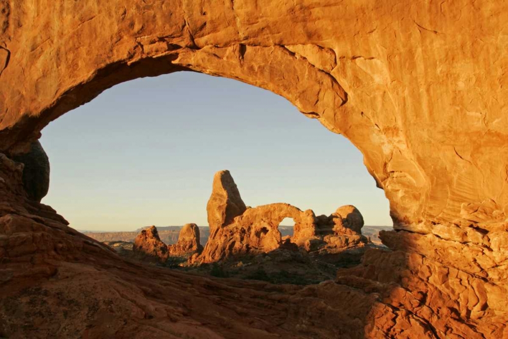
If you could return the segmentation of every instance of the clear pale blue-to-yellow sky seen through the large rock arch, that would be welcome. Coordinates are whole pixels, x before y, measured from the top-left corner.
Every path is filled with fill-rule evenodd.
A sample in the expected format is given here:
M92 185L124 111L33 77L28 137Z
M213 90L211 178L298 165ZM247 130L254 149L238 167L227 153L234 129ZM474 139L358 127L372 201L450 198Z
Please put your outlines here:
M79 230L207 226L223 169L247 206L287 202L329 215L352 204L366 225L392 226L350 141L237 80L176 72L124 82L52 121L40 141L51 164L42 202Z

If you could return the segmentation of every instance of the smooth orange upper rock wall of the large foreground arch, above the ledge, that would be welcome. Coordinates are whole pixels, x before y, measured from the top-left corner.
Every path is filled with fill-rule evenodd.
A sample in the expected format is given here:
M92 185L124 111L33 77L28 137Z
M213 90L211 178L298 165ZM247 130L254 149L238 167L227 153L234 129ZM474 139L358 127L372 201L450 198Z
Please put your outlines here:
M187 68L272 90L352 140L398 223L504 220L504 5L236 5L7 5L0 150L116 83Z

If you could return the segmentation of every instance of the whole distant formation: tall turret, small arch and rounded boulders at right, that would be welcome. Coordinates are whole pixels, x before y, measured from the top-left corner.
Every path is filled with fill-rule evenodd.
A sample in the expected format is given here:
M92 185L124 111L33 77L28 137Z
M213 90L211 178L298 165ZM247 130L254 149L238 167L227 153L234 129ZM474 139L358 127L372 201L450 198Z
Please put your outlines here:
M215 224L210 224L210 238L202 255L193 257L192 261L209 263L231 256L291 249L294 248L291 243L302 246L308 252L320 250L329 253L368 242L361 235L362 214L351 205L339 207L330 217L322 215L320 218L316 218L310 209L302 211L286 203L247 207L243 213L239 213L237 206L245 204L230 172L215 173L207 204L208 220ZM216 223L217 215L221 216L220 223ZM225 215L229 216L229 223L224 221ZM278 226L284 218L292 218L295 226L294 235L282 240Z

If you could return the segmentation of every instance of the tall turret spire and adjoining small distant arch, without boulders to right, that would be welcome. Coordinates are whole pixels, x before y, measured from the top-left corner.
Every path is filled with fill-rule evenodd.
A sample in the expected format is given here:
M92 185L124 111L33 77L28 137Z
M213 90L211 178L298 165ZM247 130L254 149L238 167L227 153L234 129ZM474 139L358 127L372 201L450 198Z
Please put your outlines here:
M213 176L206 211L210 237L203 253L193 258L194 262L211 263L230 256L276 250L281 246L278 226L284 218L293 218L296 230L315 228L314 212L310 209L304 212L287 203L245 206L227 170L218 171Z

